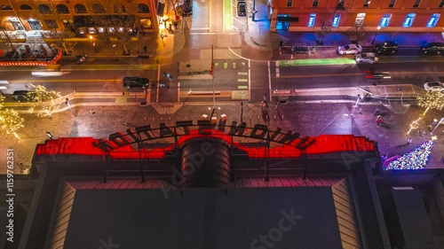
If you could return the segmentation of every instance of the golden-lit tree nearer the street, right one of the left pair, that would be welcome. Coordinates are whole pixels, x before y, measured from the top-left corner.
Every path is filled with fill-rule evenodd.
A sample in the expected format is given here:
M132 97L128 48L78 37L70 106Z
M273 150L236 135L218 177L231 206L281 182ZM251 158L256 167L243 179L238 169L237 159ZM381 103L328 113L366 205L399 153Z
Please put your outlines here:
M44 86L34 86L32 91L28 92L28 100L32 103L29 113L37 113L39 117L51 117L52 113L59 109L61 96L58 92L48 90Z

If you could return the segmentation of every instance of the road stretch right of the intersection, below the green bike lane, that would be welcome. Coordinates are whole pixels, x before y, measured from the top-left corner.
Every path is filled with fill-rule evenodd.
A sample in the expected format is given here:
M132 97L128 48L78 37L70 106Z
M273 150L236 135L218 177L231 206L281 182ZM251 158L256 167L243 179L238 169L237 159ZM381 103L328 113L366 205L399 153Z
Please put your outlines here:
M280 66L279 77L273 74L274 88L307 89L356 86L366 84L413 84L423 87L424 82L444 81L444 62L396 62L345 64L327 66ZM391 79L375 81L366 78L366 71L388 72Z

